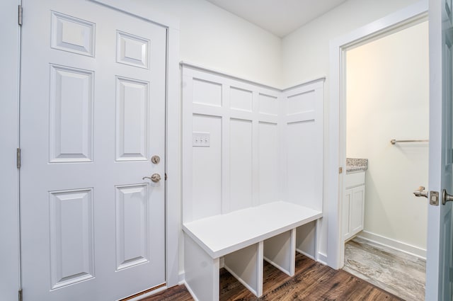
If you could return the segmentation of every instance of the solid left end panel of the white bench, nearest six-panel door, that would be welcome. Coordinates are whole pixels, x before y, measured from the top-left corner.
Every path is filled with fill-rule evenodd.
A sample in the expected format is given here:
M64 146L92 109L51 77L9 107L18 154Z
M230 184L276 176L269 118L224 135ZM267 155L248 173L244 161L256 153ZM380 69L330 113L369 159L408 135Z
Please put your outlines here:
M185 284L197 301L219 300L219 259L184 234Z

